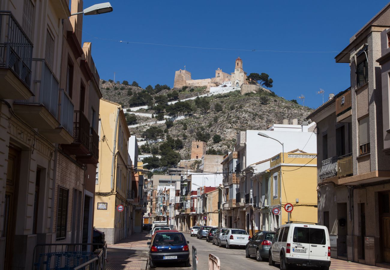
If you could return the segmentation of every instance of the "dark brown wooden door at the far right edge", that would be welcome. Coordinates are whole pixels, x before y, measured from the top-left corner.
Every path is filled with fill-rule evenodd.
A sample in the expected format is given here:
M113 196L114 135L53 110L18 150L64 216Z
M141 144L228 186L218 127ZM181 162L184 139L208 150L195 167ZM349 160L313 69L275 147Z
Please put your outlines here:
M379 193L382 260L390 263L390 191Z

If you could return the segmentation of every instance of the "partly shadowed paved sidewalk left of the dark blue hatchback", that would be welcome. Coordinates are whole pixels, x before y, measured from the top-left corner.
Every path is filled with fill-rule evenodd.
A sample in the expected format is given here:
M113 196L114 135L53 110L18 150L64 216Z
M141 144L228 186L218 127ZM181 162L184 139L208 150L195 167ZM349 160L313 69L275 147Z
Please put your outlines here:
M145 270L149 235L135 233L114 245L107 245L108 270Z

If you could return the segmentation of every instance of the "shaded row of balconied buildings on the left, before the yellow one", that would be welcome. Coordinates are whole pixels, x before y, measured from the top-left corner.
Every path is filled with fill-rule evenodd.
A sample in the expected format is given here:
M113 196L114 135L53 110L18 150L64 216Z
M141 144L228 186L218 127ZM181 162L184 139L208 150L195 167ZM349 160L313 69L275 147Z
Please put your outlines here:
M37 244L91 242L101 93L69 2L0 10L0 268L23 269Z

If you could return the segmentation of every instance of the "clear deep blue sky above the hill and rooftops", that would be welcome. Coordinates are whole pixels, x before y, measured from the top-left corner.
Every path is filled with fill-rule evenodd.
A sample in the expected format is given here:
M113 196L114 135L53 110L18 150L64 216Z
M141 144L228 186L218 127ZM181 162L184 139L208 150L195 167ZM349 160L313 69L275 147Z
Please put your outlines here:
M85 0L84 7L96 4ZM350 85L348 64L334 57L387 1L128 1L110 0L113 12L83 18L83 42L92 42L100 78L134 80L141 87L173 87L176 70L193 79L230 73L243 59L246 72L268 73L278 96L316 108ZM237 8L236 3L242 3ZM124 41L120 43L119 41ZM151 44L226 48L211 50ZM245 51L250 50L250 51ZM331 53L252 52L277 50ZM298 100L302 104L301 100Z

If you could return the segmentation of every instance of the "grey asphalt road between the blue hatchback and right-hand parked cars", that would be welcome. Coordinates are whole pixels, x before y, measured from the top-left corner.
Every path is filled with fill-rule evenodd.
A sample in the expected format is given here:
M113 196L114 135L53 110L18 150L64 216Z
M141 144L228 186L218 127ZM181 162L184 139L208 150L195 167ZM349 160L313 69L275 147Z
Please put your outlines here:
M277 270L279 268L279 264L275 264L275 266L268 265L268 261L256 261L253 258L245 258L245 249L233 247L231 249L225 249L225 247L217 247L212 243L207 243L205 239L197 239L196 237L190 237L190 234L184 233L187 241L190 241L188 246L190 247L190 260L192 260L192 246L197 249L198 255L198 265L197 270L208 270L209 269L209 254L213 254L217 256L221 261L221 269L223 270L245 270L245 269L269 269L269 270ZM147 269L150 269L149 263ZM166 263L157 265L156 270L160 269L181 269L187 270L192 269L192 261L190 267L184 267L183 263ZM298 269L298 268L296 268ZM300 269L303 269L301 267ZM305 270L309 270L310 268L305 267ZM319 269L319 268L313 268Z

